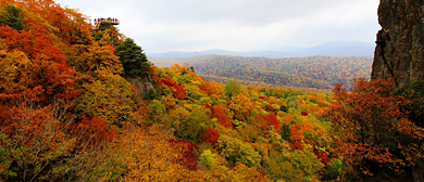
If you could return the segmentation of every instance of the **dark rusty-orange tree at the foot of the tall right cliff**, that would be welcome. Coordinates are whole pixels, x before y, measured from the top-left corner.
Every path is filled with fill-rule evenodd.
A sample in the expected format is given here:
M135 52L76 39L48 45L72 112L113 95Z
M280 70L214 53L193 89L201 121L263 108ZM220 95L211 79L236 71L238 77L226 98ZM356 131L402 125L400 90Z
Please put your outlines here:
M424 130L399 109L409 101L392 95L392 80L365 79L354 80L352 93L340 84L334 89L341 103L331 114L342 140L338 148L360 173L390 169L406 174L406 168L423 158Z

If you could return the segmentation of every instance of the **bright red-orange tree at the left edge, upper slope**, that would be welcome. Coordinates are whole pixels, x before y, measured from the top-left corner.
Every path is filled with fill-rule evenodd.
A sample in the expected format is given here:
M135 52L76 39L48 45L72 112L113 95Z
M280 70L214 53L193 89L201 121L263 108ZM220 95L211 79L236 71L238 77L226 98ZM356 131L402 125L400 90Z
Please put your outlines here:
M26 63L24 72L12 78L20 87L7 88L7 92L17 95L26 90L37 95L37 101L45 104L54 96L75 96L75 72L65 63L66 58L62 51L52 44L53 40L47 27L34 23L33 28L17 31L9 26L0 27L0 38L7 50L23 52L25 53L21 55L23 61L26 57L30 61ZM22 64L18 60L12 62Z

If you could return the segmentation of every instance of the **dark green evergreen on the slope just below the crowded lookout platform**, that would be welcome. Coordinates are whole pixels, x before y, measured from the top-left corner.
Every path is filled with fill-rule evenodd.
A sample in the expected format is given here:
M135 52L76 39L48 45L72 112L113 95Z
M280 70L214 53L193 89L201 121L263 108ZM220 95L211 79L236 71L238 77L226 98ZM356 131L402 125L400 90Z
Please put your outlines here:
M150 63L141 47L137 46L133 39L127 38L116 47L116 55L120 57L124 66L126 75L147 75L150 68Z

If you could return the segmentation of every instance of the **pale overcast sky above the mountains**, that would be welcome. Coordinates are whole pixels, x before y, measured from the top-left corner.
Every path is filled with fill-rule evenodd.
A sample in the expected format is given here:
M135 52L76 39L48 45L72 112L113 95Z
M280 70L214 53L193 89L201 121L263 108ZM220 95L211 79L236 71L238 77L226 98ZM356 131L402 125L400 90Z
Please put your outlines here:
M55 0L117 28L147 53L278 51L331 41L374 42L379 0Z

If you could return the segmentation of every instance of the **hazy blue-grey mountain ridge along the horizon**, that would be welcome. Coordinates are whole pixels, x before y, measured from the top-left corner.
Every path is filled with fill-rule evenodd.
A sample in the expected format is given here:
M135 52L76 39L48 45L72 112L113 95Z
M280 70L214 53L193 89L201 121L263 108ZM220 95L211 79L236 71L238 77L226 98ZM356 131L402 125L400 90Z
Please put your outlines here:
M165 53L147 53L148 57L170 58L170 57L191 57L198 55L234 55L234 56L259 56L270 58L301 57L301 56L373 56L375 43L362 41L334 41L319 44L311 48L287 47L280 51L245 51L235 52L221 49L207 50L201 52L165 52Z

